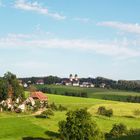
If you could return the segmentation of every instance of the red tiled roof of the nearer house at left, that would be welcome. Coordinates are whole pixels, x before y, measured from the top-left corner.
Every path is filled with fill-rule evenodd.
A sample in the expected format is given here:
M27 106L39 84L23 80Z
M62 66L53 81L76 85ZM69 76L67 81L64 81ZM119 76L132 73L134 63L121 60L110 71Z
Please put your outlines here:
M39 100L47 100L48 97L44 95L43 92L37 91L37 92L32 92L31 94L32 98L37 98Z

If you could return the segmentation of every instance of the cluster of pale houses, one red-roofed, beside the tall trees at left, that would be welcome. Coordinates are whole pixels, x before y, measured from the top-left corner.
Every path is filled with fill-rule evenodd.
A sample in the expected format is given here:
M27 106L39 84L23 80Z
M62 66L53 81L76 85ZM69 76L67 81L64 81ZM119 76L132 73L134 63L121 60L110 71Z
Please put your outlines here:
M13 101L12 98L9 97L0 102L0 111L10 110L18 112L20 110L21 112L25 112L29 106L32 109L36 107L36 102L39 102L39 108L44 108L47 105L48 97L40 91L30 93L30 96L26 100L18 97Z

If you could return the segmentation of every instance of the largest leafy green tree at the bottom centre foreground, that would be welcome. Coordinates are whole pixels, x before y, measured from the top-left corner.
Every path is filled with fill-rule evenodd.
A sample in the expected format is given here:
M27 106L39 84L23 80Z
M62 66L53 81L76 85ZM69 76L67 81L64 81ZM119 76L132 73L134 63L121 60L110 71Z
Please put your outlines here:
M69 111L66 121L59 122L59 132L63 140L103 140L104 136L92 121L86 109Z

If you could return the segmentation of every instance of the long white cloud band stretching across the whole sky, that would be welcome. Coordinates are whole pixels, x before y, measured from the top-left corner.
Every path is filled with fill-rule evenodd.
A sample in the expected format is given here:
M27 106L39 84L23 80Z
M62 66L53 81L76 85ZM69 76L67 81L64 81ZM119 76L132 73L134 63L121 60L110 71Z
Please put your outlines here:
M137 45L140 42L137 42ZM43 50L48 48L60 48L71 50L82 50L97 54L112 56L114 58L139 57L140 50L130 48L131 43L127 40L121 41L98 41L86 39L60 39L56 37L40 38L40 35L9 34L7 37L0 38L0 48L5 49L27 49Z

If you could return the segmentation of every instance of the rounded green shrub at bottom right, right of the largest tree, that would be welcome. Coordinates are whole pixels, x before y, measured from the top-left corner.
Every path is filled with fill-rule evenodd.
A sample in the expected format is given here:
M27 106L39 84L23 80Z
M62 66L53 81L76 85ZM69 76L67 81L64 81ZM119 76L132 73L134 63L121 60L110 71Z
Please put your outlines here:
M114 124L109 134L112 138L119 138L127 134L127 127L122 123Z

